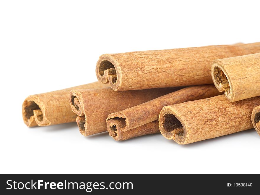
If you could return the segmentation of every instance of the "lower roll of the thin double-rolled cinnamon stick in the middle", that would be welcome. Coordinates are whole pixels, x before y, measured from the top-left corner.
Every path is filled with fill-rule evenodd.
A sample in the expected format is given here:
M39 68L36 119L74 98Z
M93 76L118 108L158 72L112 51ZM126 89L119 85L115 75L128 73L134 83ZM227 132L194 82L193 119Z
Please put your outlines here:
M152 121L150 123L144 124L142 126L139 126L137 128L128 131L121 130L120 128L121 122L122 121L118 119L108 120L108 125L107 125L108 133L116 141L123 141L138 136L160 133L158 127L158 120Z

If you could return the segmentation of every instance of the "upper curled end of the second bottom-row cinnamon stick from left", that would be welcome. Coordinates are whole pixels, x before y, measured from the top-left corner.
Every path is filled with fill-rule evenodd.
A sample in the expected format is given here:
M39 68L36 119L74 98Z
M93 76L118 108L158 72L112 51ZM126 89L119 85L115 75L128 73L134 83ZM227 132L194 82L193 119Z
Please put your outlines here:
M71 109L78 116L84 116L83 107L79 99L81 99L81 94L79 94L77 90L71 90L69 95Z

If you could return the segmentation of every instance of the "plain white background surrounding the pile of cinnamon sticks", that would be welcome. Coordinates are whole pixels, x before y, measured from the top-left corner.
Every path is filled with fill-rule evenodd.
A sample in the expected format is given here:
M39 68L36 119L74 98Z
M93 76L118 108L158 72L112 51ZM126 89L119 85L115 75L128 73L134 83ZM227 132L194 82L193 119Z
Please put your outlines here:
M28 128L22 102L96 81L99 55L260 41L258 1L1 1L0 173L260 173L254 129L189 145Z

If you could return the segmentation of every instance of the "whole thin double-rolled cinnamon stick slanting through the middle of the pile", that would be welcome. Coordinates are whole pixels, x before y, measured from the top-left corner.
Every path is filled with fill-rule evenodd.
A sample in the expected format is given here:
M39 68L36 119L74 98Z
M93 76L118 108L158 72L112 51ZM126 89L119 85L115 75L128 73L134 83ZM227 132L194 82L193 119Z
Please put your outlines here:
M138 136L146 135L148 133L159 133L158 127L155 129L152 128L154 123L150 124L150 126L143 125L157 120L159 118L160 111L164 106L197 99L204 99L220 94L221 93L218 92L214 85L191 86L180 89L170 94L147 101L143 104L109 114L107 118L108 132L110 136L117 141L137 137L136 133L138 133ZM124 133L130 130L131 132ZM122 135L122 138L120 135Z

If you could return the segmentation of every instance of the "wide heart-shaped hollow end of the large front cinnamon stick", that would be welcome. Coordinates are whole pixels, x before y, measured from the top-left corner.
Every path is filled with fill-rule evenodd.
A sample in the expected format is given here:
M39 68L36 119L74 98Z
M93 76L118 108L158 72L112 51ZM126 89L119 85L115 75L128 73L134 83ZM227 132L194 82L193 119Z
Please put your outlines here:
M159 129L161 134L167 139L173 139L178 144L185 144L186 130L185 125L178 115L170 110L170 108L163 107L159 116Z

